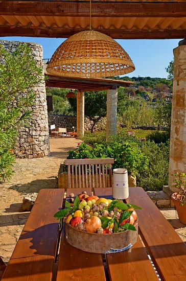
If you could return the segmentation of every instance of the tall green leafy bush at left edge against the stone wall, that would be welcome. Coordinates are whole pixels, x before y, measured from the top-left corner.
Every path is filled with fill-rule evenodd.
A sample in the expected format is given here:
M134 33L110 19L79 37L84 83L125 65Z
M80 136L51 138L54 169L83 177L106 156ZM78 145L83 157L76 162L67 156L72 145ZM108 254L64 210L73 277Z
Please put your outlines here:
M42 81L41 74L27 44L20 43L13 53L0 46L0 180L13 174L14 138L20 126L29 124L34 87Z

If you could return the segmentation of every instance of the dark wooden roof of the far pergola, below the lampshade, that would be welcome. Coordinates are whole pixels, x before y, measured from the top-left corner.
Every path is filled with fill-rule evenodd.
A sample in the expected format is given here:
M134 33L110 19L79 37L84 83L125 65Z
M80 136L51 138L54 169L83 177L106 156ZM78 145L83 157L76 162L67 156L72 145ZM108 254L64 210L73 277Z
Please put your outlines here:
M48 77L45 82L47 87L77 89L79 91L99 91L115 89L121 86L129 87L133 84L131 81L101 79L101 78L72 78L61 77L46 73Z

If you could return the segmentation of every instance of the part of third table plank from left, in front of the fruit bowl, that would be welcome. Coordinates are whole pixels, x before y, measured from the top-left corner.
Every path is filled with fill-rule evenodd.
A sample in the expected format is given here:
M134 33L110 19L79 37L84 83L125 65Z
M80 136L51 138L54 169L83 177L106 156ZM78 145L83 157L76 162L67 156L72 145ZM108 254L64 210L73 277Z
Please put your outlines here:
M107 254L106 259L110 280L112 281L158 280L139 237L131 249L120 253Z

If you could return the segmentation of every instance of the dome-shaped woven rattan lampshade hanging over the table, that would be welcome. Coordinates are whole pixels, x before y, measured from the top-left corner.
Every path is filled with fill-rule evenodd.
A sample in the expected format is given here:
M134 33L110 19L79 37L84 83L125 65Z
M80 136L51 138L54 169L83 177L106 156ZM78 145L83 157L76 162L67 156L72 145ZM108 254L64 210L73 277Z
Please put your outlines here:
M109 77L134 71L135 66L120 44L89 30L66 39L52 56L47 71L68 77Z

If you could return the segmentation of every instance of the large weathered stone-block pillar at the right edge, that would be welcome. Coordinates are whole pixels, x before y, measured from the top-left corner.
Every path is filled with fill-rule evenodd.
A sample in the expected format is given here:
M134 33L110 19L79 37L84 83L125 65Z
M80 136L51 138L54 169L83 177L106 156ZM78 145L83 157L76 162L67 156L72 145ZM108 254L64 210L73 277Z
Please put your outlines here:
M169 189L173 174L186 172L186 40L174 49L174 80L172 95L171 140L169 160Z

